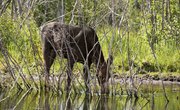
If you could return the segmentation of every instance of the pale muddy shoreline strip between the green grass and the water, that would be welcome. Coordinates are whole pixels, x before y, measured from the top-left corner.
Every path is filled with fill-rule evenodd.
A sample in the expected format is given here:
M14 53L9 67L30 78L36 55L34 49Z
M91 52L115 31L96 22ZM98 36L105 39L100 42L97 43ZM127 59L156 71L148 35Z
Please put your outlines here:
M29 76L25 76L27 79L31 80ZM44 76L41 76L44 79ZM59 75L51 75L50 76L52 80L58 81ZM79 75L75 75L75 78L81 78ZM33 75L33 79L35 81L39 81L38 75ZM62 75L61 80L66 80L66 76ZM91 81L94 82L95 76L91 77ZM152 84L152 85L162 85L162 82L164 85L177 85L180 86L180 76L162 76L159 77L159 75L135 75L133 77L133 81L135 84ZM0 74L0 87L9 87L12 85L12 82L14 82L9 74ZM83 81L84 82L84 81ZM117 75L113 74L113 76L110 78L109 83L110 84L128 84L130 82L130 77L127 75Z

